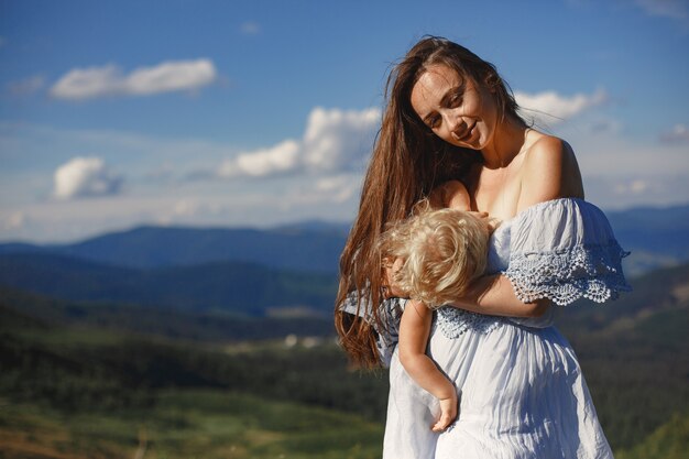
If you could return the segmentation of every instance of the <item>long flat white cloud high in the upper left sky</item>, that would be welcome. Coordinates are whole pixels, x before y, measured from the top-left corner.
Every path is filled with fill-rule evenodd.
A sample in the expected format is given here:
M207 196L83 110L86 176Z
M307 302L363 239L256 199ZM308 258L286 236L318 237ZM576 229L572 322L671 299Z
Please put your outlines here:
M83 100L97 97L198 90L217 78L209 59L171 61L153 67L140 67L122 75L113 64L103 67L75 68L51 88L58 99Z

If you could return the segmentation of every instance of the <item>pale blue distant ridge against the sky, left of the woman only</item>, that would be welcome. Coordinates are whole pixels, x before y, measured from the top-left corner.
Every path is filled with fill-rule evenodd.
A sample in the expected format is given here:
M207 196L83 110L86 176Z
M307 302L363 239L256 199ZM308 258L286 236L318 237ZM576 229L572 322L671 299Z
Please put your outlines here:
M141 227L73 244L0 244L0 253L53 253L139 269L241 261L336 273L346 238L343 225L321 222L271 230Z

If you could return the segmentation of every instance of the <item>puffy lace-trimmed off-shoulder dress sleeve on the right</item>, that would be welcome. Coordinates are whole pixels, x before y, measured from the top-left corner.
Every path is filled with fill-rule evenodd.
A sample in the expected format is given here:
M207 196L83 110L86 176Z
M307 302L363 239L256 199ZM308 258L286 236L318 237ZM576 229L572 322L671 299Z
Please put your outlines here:
M515 217L503 274L525 303L549 298L564 306L581 297L603 303L632 289L622 272L628 254L598 207L556 199Z

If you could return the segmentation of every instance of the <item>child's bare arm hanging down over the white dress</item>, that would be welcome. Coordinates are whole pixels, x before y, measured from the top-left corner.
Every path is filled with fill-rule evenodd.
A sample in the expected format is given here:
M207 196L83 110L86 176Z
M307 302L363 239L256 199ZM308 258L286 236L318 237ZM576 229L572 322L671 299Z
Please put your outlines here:
M457 417L457 390L426 356L433 312L423 303L409 299L400 324L400 361L418 385L440 401L440 418L431 427L445 430Z

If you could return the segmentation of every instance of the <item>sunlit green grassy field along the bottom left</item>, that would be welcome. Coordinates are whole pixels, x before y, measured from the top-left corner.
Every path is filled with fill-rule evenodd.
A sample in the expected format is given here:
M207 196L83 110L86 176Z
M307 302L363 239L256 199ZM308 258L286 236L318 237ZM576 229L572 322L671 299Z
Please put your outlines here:
M382 426L361 417L218 390L165 390L150 409L65 413L1 400L3 458L380 457Z

